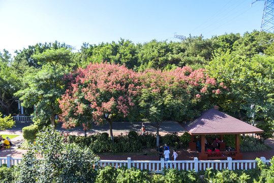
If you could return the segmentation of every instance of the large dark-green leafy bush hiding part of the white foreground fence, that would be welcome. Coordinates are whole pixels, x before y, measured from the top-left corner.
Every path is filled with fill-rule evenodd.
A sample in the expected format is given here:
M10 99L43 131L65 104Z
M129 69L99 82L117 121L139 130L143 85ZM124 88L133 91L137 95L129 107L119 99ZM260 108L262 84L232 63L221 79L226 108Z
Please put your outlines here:
M95 182L97 163L89 148L64 143L60 133L48 128L37 134L15 168L16 182Z

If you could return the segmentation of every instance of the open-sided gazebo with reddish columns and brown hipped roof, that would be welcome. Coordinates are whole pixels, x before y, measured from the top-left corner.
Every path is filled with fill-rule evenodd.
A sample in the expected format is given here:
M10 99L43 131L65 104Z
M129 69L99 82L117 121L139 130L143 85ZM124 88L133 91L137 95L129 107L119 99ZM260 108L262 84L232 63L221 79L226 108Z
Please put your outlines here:
M201 113L201 116L186 123L181 124L188 133L191 134L189 143L190 149L196 149L196 141L194 135L201 136L201 152L199 160L207 159L225 159L231 157L235 160L241 160L240 153L240 134L263 133L263 130L249 125L239 119L227 115L216 109L208 109ZM225 142L223 135L235 134L235 151L225 151ZM220 152L205 151L205 135L220 135Z

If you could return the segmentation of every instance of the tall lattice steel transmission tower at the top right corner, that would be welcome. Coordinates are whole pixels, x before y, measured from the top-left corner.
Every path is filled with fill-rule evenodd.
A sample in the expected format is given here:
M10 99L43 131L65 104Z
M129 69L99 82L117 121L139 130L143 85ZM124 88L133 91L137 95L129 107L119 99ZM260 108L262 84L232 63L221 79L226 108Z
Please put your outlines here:
M274 33L274 0L256 0L253 3L257 1L264 1L261 31Z

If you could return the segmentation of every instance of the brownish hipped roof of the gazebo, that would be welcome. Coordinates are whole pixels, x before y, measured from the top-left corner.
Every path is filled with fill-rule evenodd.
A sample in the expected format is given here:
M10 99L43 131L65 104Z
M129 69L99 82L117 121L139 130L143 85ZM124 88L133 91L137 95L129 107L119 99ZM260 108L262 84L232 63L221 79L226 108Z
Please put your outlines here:
M225 135L263 133L263 130L216 109L208 109L200 117L181 125L191 135Z

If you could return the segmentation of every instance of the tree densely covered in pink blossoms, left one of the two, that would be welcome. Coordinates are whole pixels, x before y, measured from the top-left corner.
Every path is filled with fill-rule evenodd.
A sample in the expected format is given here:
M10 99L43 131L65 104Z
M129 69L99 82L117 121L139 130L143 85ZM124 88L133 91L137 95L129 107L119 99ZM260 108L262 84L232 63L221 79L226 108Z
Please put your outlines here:
M101 63L90 64L65 78L70 83L66 94L59 100L63 128L83 126L86 131L93 123L102 125L107 122L113 141L113 119L126 117L135 105L136 73L125 66Z

